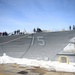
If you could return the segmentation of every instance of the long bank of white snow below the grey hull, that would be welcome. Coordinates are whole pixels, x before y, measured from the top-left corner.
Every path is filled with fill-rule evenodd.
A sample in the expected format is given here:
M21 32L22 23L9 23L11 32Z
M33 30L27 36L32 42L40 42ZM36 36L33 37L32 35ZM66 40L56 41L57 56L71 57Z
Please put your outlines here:
M36 59L27 59L27 58L12 58L7 56L6 53L0 57L0 64L7 63L16 63L22 66L38 66L41 68L45 68L48 71L64 71L64 72L75 72L75 63L67 64L67 63L58 63L52 61L44 61L44 60L36 60Z

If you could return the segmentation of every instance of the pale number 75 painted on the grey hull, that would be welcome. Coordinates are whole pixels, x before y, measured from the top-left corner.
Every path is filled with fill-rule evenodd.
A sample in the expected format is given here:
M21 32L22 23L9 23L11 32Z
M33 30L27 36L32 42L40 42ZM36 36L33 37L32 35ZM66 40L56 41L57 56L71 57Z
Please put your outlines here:
M31 45L34 45L34 41L35 41L35 37L34 36L28 36L28 38L31 38ZM40 46L44 46L45 45L45 41L44 41L44 38L43 36L36 36L37 38L37 41L39 42L38 44Z

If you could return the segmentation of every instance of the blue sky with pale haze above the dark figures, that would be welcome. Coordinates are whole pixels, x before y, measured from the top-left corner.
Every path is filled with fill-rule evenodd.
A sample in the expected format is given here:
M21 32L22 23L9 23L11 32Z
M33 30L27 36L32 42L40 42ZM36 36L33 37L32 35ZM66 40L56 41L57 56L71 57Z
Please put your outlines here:
M75 24L75 0L0 0L0 31L68 29Z

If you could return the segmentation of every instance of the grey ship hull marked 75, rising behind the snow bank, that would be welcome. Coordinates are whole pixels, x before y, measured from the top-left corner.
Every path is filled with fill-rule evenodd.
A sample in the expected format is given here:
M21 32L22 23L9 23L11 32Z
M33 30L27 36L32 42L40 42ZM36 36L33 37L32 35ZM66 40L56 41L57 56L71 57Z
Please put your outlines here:
M37 32L0 37L0 56L6 53L14 58L29 58L75 62L75 52L64 48L74 44L75 30L57 32ZM72 41L73 42L72 42ZM69 59L69 60L68 60Z

